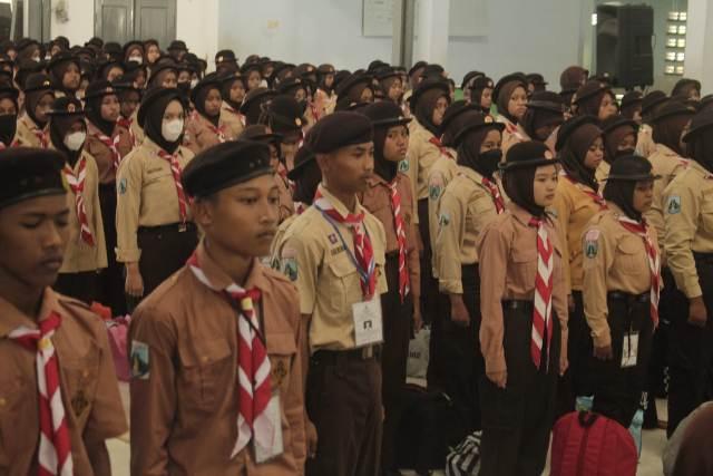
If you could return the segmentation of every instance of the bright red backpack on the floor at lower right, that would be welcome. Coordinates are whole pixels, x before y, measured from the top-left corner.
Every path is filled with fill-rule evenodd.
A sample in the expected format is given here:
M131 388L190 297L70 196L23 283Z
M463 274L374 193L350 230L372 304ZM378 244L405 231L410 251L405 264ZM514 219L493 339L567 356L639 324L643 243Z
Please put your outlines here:
M555 424L550 476L636 476L637 464L632 434L612 419L573 411Z

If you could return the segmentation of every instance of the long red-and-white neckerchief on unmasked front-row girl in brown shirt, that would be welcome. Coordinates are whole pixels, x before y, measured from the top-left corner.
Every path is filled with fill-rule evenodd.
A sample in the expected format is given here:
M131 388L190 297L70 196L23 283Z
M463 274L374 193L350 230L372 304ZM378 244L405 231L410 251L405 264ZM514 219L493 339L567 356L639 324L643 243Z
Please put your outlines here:
M547 229L545 229L545 221L531 217L529 225L537 227L537 276L535 278L530 357L535 367L539 369L545 334L547 334L547 362L549 362L549 348L553 340L553 269L555 258L553 243L547 235Z

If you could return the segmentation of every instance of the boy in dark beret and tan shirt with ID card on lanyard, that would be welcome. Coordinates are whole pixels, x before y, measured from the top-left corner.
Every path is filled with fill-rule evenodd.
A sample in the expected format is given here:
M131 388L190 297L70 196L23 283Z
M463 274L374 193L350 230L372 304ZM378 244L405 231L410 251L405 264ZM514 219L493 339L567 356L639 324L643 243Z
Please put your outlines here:
M310 475L380 470L382 342L380 294L385 235L356 200L373 174L371 122L341 111L320 119L306 144L322 171L314 204L295 218L281 249L293 260L300 308L310 322L307 414L316 427Z

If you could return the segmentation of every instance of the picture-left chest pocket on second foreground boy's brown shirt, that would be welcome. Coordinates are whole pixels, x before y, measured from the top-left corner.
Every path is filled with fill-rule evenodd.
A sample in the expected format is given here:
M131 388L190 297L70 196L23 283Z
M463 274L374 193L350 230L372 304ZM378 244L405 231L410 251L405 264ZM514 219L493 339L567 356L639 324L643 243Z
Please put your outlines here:
M196 339L178 347L179 399L186 410L212 414L223 395L231 392L233 352L225 339Z

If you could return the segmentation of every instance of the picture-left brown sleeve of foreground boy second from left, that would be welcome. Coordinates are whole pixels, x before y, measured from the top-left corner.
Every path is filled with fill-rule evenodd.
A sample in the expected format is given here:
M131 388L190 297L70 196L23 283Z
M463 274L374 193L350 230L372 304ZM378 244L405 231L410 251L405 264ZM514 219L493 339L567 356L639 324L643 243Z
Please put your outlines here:
M158 309L139 307L134 313L127 340L133 348L148 349L148 373L133 375L131 394L131 474L166 475L166 441L176 415L176 334L168 317Z

